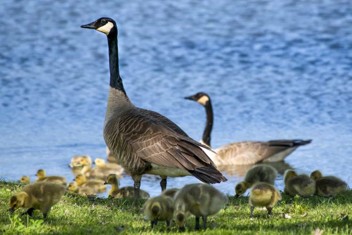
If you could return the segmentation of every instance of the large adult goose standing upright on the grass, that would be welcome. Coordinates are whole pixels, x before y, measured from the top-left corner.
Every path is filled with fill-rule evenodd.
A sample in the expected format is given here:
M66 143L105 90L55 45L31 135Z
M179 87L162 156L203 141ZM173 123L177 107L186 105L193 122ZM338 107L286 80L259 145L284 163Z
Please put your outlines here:
M117 162L131 173L134 205L137 206L143 174L160 175L162 191L168 176L193 175L211 184L226 181L202 149L208 149L206 146L188 137L168 118L131 103L119 73L115 21L104 17L81 27L103 32L108 39L110 88L103 135Z

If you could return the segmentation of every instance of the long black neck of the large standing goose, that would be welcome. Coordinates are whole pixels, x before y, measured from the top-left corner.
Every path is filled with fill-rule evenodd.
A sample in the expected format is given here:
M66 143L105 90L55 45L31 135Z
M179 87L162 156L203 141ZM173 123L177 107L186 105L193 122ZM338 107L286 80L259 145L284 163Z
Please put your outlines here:
M110 86L122 91L126 95L119 71L119 49L117 47L117 33L109 34L107 38L109 45Z

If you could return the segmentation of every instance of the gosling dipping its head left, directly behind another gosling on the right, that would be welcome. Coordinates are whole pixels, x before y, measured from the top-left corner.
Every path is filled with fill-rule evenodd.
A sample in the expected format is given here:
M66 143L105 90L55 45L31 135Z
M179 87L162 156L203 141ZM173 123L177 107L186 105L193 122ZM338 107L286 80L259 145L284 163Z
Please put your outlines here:
M239 197L247 191L252 185L263 182L274 185L277 171L269 165L253 166L246 174L244 181L238 183L235 187L236 197Z

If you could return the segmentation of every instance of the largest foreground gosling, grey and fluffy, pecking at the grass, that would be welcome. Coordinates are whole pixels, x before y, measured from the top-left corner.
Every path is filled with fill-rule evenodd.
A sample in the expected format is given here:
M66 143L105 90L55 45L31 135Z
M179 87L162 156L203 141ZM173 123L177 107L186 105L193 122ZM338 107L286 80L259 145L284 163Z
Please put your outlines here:
M227 196L208 184L185 185L175 195L175 221L181 231L185 231L184 224L187 212L195 215L195 229L199 229L199 217L206 229L207 216L218 213L227 203Z

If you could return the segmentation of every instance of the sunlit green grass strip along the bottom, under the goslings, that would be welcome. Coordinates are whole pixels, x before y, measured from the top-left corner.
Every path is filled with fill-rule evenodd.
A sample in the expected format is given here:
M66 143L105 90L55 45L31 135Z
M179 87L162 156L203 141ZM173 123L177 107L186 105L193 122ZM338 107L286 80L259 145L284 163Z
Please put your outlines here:
M165 222L159 222L151 231L142 209L132 208L132 199L87 198L67 193L44 223L38 210L33 218L20 215L25 209L10 216L8 200L21 187L0 181L0 234L180 234L175 224L167 232ZM141 207L144 202L140 202ZM267 217L266 210L256 208L251 221L248 197L229 196L225 208L208 218L207 230L194 232L194 217L190 217L186 233L312 234L320 229L323 234L352 234L352 218L347 217L351 211L352 190L335 198L283 195L281 204L273 209L274 216Z

